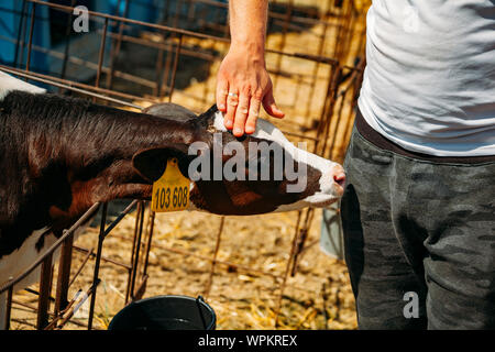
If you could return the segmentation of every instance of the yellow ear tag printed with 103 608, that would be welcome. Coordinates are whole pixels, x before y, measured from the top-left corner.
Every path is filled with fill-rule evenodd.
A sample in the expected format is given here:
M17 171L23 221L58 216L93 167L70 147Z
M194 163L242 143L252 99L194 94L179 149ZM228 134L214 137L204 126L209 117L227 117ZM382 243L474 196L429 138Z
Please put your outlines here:
M184 210L189 205L190 180L184 177L177 158L167 161L165 173L153 184L152 210L156 212Z

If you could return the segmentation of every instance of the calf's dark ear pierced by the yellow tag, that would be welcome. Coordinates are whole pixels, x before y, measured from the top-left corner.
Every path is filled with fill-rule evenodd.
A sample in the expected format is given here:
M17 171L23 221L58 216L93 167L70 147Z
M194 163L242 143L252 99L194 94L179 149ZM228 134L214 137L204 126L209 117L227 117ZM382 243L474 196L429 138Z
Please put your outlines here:
M142 150L132 157L132 166L144 179L154 183L165 173L168 158L176 157L180 172L188 177L189 163L194 155L188 155L187 151L186 144Z

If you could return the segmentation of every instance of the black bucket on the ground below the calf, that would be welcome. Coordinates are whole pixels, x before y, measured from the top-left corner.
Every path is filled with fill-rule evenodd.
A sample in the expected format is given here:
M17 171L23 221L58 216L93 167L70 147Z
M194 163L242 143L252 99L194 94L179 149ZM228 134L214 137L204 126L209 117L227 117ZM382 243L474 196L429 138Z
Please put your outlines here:
M136 300L113 317L109 330L215 330L217 316L201 296Z

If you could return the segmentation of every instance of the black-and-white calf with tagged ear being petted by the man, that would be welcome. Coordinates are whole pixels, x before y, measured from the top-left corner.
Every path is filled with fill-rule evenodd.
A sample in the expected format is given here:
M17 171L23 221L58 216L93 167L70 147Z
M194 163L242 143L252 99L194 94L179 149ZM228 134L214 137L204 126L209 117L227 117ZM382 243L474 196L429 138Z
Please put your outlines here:
M169 157L188 175L197 157L189 155L190 146L201 143L199 153L206 155L218 142L245 146L254 165L273 157L250 154L251 143L278 145L305 167L305 187L287 191L296 180L285 174L263 180L202 177L190 182L187 210L258 215L324 207L342 195L340 165L296 148L265 120L252 135L235 139L215 106L201 116L167 103L136 113L50 95L0 73L0 285L21 274L95 202L151 199ZM222 167L233 153L220 151Z

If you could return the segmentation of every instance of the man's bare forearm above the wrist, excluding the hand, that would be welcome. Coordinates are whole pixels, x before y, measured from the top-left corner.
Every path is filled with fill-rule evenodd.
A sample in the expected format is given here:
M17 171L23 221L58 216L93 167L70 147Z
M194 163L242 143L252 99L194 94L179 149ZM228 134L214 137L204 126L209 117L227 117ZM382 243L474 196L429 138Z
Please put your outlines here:
M231 50L264 58L268 0L230 0Z

